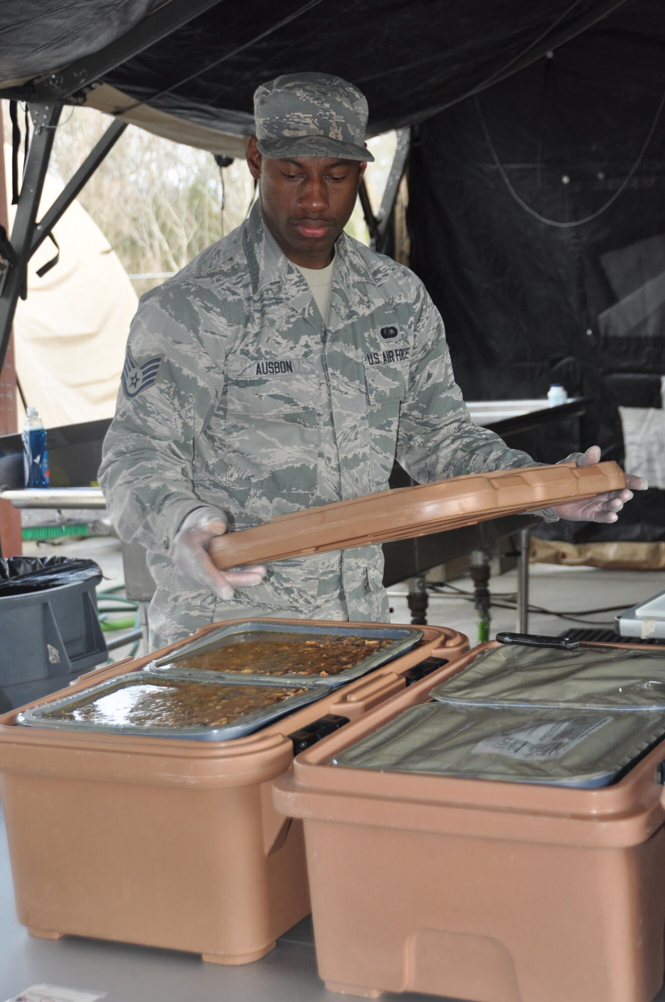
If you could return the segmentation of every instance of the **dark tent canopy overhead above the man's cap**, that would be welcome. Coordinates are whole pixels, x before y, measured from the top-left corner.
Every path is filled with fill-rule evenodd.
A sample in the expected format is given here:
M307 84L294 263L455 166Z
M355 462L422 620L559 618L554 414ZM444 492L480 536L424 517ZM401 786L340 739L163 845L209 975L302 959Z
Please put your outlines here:
M87 103L154 131L166 128L166 118L188 123L185 141L232 152L232 142L221 149L209 133L251 133L259 82L318 70L363 88L376 134L427 118L516 72L627 3L4 0L0 87L18 84L15 93L29 98L32 81L54 74L57 92L65 71L65 100L101 83L97 93L87 90ZM115 46L117 57L110 64L107 46ZM76 63L78 80L66 73ZM169 127L169 137L177 137L176 123Z

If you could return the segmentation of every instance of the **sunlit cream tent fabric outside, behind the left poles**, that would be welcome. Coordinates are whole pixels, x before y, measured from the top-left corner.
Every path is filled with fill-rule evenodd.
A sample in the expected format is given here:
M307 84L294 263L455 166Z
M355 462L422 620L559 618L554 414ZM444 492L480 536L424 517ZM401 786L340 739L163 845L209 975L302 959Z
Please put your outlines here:
M11 147L5 144L11 177ZM47 174L40 215L62 190ZM11 192L8 192L8 201ZM10 225L13 220L10 205ZM37 270L54 257L45 240L28 268L28 298L14 322L16 371L28 404L46 428L109 418L124 362L137 297L110 243L78 202L54 229L60 260L43 278ZM19 428L24 415L20 405Z

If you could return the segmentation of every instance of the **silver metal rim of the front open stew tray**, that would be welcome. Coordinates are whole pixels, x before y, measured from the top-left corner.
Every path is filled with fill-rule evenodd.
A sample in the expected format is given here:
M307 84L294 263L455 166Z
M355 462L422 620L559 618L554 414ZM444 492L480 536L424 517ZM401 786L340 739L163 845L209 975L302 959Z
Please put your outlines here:
M71 695L63 696L60 699L54 699L52 702L43 703L40 706L33 706L31 709L26 709L24 712L20 713L17 717L17 722L35 727L49 727L52 730L69 730L69 731L94 731L96 733L106 733L106 734L130 734L130 735L145 735L148 737L179 737L193 740L207 740L207 741L227 741L235 737L244 737L247 734L251 734L261 727L267 726L269 723L274 723L282 716L287 716L289 713L296 709L300 709L307 703L314 702L317 699L322 698L327 695L331 690L331 686L326 682L316 679L315 681L309 681L300 678L297 683L291 680L284 680L279 678L275 680L272 678L265 678L264 676L258 675L242 675L238 678L237 674L226 674L215 673L213 678L203 677L200 675L202 672L196 672L196 678L192 677L192 673L189 672L176 672L171 671L168 675L163 674L160 680L166 681L170 680L180 680L180 681L198 681L204 685L265 685L266 687L278 687L278 688L306 688L307 692L301 692L299 695L293 696L292 698L283 699L281 702L276 703L274 706L268 706L263 710L254 710L252 713L246 713L243 716L237 717L237 719L232 723L226 723L220 727L205 727L205 726L187 726L187 727L177 727L177 726L141 726L140 724L135 725L114 725L112 723L79 723L73 720L57 720L49 718L49 713L56 710L62 709L65 706L73 706L77 702L82 700L88 700L91 695L101 694L103 692L110 692L114 688L120 687L124 682L148 682L154 684L157 681L157 677L154 672L150 671L138 671L131 672L125 675L116 675L113 678L108 678L104 682L100 682L98 685L92 685L90 688L84 689L83 691L72 693Z

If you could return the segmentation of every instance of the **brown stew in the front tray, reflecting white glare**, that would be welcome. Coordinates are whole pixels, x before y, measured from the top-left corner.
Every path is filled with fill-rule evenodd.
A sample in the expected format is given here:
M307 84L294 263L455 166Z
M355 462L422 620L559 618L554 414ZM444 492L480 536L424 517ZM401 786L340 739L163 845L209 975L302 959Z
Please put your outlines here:
M119 727L219 727L304 691L250 682L214 685L167 677L143 678L123 680L105 692L83 695L46 715L52 720Z

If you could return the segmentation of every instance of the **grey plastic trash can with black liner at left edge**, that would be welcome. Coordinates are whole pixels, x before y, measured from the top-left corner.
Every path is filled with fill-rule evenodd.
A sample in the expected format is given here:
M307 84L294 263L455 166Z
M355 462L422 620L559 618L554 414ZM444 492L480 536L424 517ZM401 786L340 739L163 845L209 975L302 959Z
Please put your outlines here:
M95 592L101 577L93 560L0 560L0 712L106 660Z

